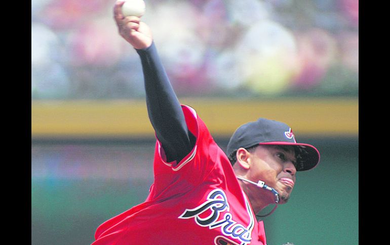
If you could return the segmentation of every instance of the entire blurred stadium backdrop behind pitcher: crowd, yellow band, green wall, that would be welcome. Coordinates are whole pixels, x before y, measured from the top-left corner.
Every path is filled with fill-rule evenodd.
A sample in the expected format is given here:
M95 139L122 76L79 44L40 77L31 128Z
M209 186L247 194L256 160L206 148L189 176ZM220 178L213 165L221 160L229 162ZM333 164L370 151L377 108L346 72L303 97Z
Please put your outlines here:
M152 183L143 74L113 4L31 1L31 244L90 244ZM358 244L359 1L145 4L180 102L223 150L239 125L266 117L321 152L263 218L268 244Z

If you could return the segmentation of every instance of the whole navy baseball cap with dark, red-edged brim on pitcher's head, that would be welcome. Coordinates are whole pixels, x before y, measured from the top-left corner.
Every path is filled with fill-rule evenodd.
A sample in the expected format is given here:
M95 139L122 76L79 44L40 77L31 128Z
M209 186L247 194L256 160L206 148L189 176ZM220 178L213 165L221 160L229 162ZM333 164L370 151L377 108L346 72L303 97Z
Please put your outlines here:
M313 145L297 143L291 127L265 118L240 126L230 137L226 154L229 156L241 147L249 148L257 144L295 146L297 171L312 169L320 162L319 151Z

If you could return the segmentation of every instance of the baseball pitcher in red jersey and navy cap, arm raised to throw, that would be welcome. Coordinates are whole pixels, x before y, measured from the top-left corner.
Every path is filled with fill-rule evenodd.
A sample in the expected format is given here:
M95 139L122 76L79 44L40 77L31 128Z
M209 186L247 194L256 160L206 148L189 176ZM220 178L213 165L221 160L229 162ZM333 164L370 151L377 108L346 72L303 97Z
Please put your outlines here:
M114 19L140 57L157 138L154 182L145 202L101 224L92 244L266 244L256 214L288 201L296 172L319 163L317 149L297 143L286 124L260 118L236 130L226 155L197 112L179 103L149 27L124 17L122 5Z

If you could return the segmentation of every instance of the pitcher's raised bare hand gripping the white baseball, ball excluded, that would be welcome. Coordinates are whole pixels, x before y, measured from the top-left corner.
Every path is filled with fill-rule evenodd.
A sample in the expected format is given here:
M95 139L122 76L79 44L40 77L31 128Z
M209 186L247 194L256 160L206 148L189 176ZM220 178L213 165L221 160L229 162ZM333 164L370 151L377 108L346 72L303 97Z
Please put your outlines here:
M114 5L114 19L119 34L137 50L147 48L153 41L150 28L144 22L141 22L137 16L125 17L122 14L124 3L118 1Z

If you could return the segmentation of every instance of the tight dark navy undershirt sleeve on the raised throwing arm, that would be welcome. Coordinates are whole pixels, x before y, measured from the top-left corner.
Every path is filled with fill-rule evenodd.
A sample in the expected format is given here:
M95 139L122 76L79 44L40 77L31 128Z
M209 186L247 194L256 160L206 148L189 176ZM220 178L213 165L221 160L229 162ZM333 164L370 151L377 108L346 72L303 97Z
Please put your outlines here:
M154 42L136 51L142 64L149 120L164 148L167 162L179 162L192 150L196 138L188 130Z

